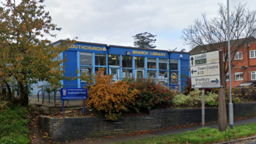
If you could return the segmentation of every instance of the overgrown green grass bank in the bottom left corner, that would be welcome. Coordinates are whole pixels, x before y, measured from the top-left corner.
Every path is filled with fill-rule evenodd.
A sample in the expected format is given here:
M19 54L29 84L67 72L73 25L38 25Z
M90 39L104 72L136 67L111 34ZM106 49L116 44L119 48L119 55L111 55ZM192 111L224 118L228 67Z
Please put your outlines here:
M26 113L24 107L0 110L0 143L30 143Z

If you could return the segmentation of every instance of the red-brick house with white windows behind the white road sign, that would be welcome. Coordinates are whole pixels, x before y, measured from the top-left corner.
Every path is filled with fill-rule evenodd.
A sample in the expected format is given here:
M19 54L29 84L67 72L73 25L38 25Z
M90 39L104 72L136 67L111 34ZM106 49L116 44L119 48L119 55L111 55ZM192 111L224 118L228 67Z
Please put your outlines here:
M233 59L234 55L232 52L234 49L237 50L235 50L235 58L231 62L231 75L229 71L226 74L227 86L229 85L229 76L231 76L232 87L236 87L244 81L256 81L256 38L249 37L247 39L242 38L237 41L230 41L230 47L231 59ZM228 69L227 42L196 46L189 53L197 54L217 49L223 50L225 53L223 54L223 62L226 63L225 69Z

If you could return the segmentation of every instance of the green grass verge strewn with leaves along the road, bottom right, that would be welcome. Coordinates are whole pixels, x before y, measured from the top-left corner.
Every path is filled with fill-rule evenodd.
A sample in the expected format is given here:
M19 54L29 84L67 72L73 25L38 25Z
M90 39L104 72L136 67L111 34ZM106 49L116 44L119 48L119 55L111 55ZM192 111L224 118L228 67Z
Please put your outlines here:
M235 126L233 130L228 128L225 132L220 132L218 129L211 129L209 127L205 127L203 129L198 129L193 132L189 131L180 134L164 135L136 141L125 141L121 143L217 143L222 141L250 137L255 134L256 123L250 123Z

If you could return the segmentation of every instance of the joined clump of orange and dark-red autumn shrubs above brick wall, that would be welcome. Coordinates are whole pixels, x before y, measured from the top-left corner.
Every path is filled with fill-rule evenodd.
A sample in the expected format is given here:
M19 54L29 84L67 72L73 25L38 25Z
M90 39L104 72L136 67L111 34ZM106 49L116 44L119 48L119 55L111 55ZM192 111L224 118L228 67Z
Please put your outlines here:
M148 112L172 105L175 90L169 90L151 79L123 79L113 82L112 75L97 72L95 83L89 86L87 107L101 111L106 119L116 121L124 113Z

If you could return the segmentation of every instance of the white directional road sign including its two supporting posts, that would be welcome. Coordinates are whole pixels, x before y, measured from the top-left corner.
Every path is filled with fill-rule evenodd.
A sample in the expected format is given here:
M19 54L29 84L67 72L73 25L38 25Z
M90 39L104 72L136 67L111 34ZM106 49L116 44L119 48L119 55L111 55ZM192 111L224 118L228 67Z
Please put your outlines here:
M189 56L191 87L196 89L220 87L219 89L219 127L225 129L225 85L223 83L223 52L212 51ZM222 79L221 79L222 77ZM223 99L224 98L224 99ZM203 98L202 98L203 99ZM227 117L227 116L226 116ZM204 100L202 100L202 124L204 127Z

